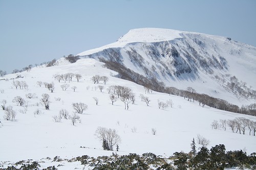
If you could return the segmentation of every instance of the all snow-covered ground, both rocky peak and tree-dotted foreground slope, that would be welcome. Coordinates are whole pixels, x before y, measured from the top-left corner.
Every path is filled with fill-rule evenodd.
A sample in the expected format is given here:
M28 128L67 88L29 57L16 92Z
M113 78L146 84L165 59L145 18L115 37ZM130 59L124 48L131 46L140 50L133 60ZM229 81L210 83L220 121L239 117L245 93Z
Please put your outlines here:
M199 48L200 45L192 47L191 44L190 48L185 48L189 46L188 41L202 46L204 44L206 50L203 50L203 47ZM214 46L210 47L214 43L216 51ZM237 50L232 48L227 52L219 45L221 43L226 45L226 49L237 46ZM228 121L245 118L249 122L256 122L256 116L202 107L198 101L188 101L180 96L154 90L145 91L141 85L117 78L118 72L108 69L105 63L98 61L104 58L118 62L148 79L150 76L156 77L166 86L184 89L190 86L198 92L208 93L216 90L215 96L237 102L238 95L234 95L236 90L228 92L223 84L227 85L227 81L237 83L241 80L247 83L241 85L241 88L245 89L243 86L247 86L247 91L253 89L249 85L255 84L255 47L224 37L173 30L138 29L131 30L113 44L80 55L83 57L75 63L61 58L54 66L37 66L18 75L9 74L1 77L0 106L5 105L11 110L11 117L6 118L8 111L1 107L0 168L6 168L8 165L19 168L20 163L15 165L15 162L31 159L25 162L38 161L40 169L53 165L58 166L58 169L93 169L94 164L81 165L78 161L67 160L53 161L53 158L109 156L113 152L119 155L141 155L151 152L162 155L167 160L174 152L188 153L191 150L191 140L197 140L200 136L208 140L208 149L224 144L226 151L243 150L248 154L255 152L255 136L248 126L245 127L245 134L242 131L236 133L237 129L233 132L227 124L226 129L221 126L220 119ZM203 61L210 65L204 65L201 63ZM155 71L151 69L152 65L155 66ZM234 67L241 69L236 70ZM184 72L178 74L182 69ZM71 75L69 73L79 74L81 78L77 81L73 75L72 80L70 77L65 80L65 75ZM220 74L230 76L221 77ZM63 79L58 79L61 75ZM108 81L94 83L92 78L95 75L107 77ZM225 78L226 82L216 76ZM231 78L233 76L238 80ZM49 89L52 89L52 92L46 88L47 84L51 84ZM124 101L130 102L128 110L124 109L121 98L112 105L110 95L113 93L113 86L131 89L134 104L130 99ZM50 96L49 110L42 105L42 94ZM148 106L142 100L142 95L150 101L147 103ZM16 102L17 96L24 99L22 106ZM98 99L97 105L95 99ZM249 97L246 100L252 101ZM243 98L241 101L246 100ZM159 108L161 102L168 103L168 107ZM83 114L76 113L80 119L74 125L73 103L84 103L88 106ZM60 118L59 112L62 109L69 113L67 119ZM218 125L215 128L216 122ZM121 138L121 142L118 143L119 151L116 151L116 148L114 151L102 149L102 142L95 136L98 127L116 130ZM153 130L156 134L152 133ZM196 144L196 147L198 151L202 145Z

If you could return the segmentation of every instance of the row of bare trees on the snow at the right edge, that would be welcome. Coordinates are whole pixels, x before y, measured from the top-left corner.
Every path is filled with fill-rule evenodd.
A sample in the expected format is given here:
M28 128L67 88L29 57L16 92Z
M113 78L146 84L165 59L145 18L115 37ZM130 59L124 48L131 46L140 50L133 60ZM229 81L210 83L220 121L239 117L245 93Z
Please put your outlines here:
M232 132L239 132L240 134L245 134L245 131L249 130L249 135L255 136L256 132L256 122L244 117L237 117L228 120L220 119L219 122L218 120L214 120L214 122L211 123L212 129L226 130L227 127L229 127Z

